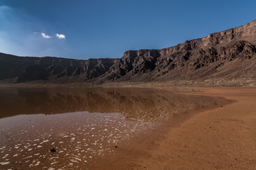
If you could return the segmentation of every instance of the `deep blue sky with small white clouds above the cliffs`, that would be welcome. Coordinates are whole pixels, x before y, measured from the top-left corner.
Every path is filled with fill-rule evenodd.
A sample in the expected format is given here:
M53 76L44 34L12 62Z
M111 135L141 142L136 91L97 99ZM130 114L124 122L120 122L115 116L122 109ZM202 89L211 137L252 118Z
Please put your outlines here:
M119 58L245 25L256 1L0 0L0 52Z

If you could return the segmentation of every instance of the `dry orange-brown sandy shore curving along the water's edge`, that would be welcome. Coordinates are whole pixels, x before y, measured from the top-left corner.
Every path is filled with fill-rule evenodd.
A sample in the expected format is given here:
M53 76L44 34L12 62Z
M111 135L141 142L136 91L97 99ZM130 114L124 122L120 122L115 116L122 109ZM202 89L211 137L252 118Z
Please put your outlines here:
M193 88L194 89L194 88ZM236 102L141 137L95 169L256 169L256 88L198 88Z

